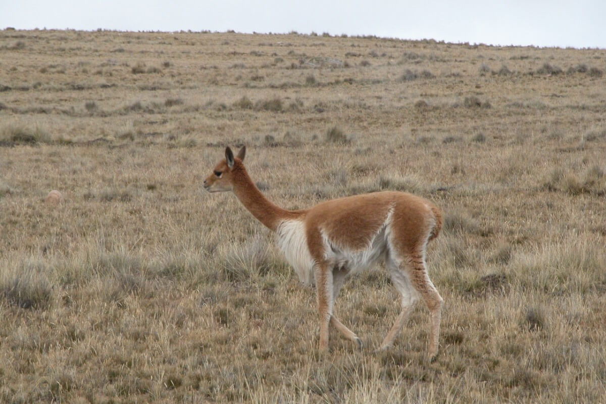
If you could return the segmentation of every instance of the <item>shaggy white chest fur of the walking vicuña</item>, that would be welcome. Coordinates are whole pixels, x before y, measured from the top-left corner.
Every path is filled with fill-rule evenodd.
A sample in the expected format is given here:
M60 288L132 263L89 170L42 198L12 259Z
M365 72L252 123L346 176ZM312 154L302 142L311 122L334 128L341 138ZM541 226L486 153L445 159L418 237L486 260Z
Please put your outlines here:
M276 238L279 249L299 275L299 280L306 284L313 283L313 258L307 247L304 223L300 220L282 221Z

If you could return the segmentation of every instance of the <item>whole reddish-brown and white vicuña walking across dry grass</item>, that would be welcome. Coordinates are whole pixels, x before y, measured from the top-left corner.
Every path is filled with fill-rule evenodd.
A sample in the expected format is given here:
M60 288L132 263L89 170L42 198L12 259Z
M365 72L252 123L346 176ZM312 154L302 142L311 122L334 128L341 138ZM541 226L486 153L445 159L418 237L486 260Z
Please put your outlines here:
M362 346L358 336L333 313L335 298L349 275L379 260L402 295L402 309L381 343L387 349L422 299L430 311L428 356L438 353L443 300L427 274L425 250L442 226L438 207L405 192L384 191L325 201L305 210L287 210L261 194L244 168L245 147L234 157L225 149L204 181L209 192L234 192L261 223L276 232L278 246L299 278L316 284L320 314L320 351L328 349L328 326Z

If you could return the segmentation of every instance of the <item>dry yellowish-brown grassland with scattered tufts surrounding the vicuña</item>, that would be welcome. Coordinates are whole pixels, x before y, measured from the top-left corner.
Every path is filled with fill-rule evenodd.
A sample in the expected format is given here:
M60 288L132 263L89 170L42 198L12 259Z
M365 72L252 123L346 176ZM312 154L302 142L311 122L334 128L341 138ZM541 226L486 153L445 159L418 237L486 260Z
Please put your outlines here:
M606 51L324 35L0 32L0 402L606 402ZM435 201L441 352L384 268L336 302L231 194ZM61 204L46 204L52 189Z

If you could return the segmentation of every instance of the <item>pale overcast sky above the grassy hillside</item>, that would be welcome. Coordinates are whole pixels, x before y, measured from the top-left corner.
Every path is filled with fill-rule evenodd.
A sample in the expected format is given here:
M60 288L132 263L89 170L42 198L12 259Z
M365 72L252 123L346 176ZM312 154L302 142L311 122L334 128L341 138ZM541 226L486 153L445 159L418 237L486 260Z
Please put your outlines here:
M235 30L606 48L606 0L0 0L0 29Z

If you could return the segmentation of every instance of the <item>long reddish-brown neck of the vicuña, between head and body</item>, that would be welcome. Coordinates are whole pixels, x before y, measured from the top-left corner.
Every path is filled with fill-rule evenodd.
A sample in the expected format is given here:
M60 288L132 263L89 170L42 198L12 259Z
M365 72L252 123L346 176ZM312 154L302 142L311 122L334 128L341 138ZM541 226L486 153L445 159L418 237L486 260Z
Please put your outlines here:
M276 231L282 220L296 218L302 213L301 211L282 209L271 203L270 200L265 198L265 195L261 194L261 191L250 179L244 166L239 161L236 161L233 175L233 193L236 194L244 207L271 231Z

